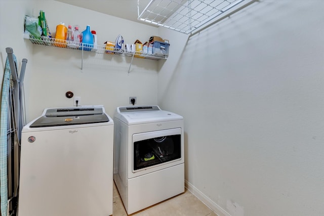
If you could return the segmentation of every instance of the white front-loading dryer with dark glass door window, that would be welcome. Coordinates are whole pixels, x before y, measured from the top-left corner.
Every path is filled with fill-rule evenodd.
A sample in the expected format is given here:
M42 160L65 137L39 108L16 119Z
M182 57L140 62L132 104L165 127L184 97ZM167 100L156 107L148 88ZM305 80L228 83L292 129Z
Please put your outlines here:
M117 107L114 128L114 181L128 214L184 192L182 116Z

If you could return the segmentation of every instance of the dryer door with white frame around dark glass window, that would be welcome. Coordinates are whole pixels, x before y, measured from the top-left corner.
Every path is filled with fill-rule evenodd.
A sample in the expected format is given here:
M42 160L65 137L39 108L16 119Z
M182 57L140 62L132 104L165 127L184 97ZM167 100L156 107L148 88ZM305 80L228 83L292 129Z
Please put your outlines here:
M138 172L180 160L181 136L181 128L134 134L132 171Z

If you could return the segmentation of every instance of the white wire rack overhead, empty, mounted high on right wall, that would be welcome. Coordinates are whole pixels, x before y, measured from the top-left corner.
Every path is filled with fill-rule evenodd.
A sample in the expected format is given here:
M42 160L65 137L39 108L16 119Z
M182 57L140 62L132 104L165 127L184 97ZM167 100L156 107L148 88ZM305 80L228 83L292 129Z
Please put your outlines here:
M138 20L191 33L245 0L151 0Z

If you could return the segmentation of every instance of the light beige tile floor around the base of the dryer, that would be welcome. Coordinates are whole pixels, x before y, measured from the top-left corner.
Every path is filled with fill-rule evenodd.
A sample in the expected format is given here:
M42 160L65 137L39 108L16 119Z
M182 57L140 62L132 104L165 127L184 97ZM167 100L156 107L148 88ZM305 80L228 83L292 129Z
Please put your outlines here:
M113 216L127 216L123 201L116 185L113 184ZM153 206L135 212L136 216L217 216L209 207L195 197L190 191L157 203Z

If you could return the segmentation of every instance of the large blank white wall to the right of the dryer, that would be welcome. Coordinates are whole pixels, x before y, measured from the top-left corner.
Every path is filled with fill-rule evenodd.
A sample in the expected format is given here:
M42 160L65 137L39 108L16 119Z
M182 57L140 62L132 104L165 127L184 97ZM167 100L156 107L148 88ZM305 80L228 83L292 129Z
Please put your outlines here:
M253 3L161 66L159 105L185 119L187 185L220 215L324 214L323 9Z

